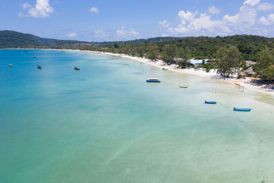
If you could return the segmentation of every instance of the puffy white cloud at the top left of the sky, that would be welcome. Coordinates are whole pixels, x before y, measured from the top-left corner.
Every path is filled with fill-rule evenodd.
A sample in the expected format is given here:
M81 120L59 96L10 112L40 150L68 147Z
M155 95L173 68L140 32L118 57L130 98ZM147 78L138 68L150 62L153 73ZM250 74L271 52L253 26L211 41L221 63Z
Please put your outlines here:
M32 7L29 3L23 3L21 5L24 10L27 11L26 16L32 16L34 18L45 18L53 13L53 8L49 5L49 0L36 0L35 7ZM23 13L19 13L18 16L22 16Z

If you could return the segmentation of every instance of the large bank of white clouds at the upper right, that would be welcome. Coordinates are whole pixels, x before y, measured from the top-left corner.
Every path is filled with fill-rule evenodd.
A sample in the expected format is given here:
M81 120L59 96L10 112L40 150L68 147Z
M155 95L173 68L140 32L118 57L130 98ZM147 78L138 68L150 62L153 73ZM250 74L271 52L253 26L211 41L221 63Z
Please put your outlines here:
M214 6L209 8L210 14L182 10L178 13L181 21L179 25L170 27L167 21L160 22L160 25L166 30L164 34L169 36L260 34L262 32L262 29L258 28L260 25L274 25L274 14L258 19L259 11L269 10L266 8L268 4L270 3L260 3L260 0L247 0L242 4L238 13L225 14L219 20L212 19L212 14L217 12L214 11ZM263 34L266 35L265 29ZM267 34L271 34L271 29Z

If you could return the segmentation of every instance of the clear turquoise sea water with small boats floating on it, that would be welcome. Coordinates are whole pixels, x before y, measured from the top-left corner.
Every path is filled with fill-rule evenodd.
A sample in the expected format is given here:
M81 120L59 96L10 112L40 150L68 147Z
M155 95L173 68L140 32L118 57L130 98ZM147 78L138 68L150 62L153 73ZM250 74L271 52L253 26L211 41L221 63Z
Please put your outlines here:
M269 95L77 51L0 50L0 84L0 182L274 182Z

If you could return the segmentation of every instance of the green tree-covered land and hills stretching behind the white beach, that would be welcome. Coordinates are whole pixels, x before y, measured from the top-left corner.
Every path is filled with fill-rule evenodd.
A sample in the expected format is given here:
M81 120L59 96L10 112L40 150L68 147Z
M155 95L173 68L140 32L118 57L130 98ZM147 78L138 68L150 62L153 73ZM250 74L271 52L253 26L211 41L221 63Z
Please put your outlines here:
M274 80L274 38L262 36L216 36L164 37L119 42L83 42L77 40L54 40L31 34L0 31L0 48L79 49L124 53L129 56L163 60L180 68L193 66L191 58L206 60L206 71L217 69L224 77L248 69L245 60L252 60L254 76L262 80Z

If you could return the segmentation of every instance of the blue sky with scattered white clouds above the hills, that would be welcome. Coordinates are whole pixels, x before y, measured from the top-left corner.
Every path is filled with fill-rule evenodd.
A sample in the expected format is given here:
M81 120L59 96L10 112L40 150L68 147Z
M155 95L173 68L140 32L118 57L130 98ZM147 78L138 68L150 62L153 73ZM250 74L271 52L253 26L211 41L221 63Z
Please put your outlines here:
M1 0L0 30L86 41L274 37L274 0Z

